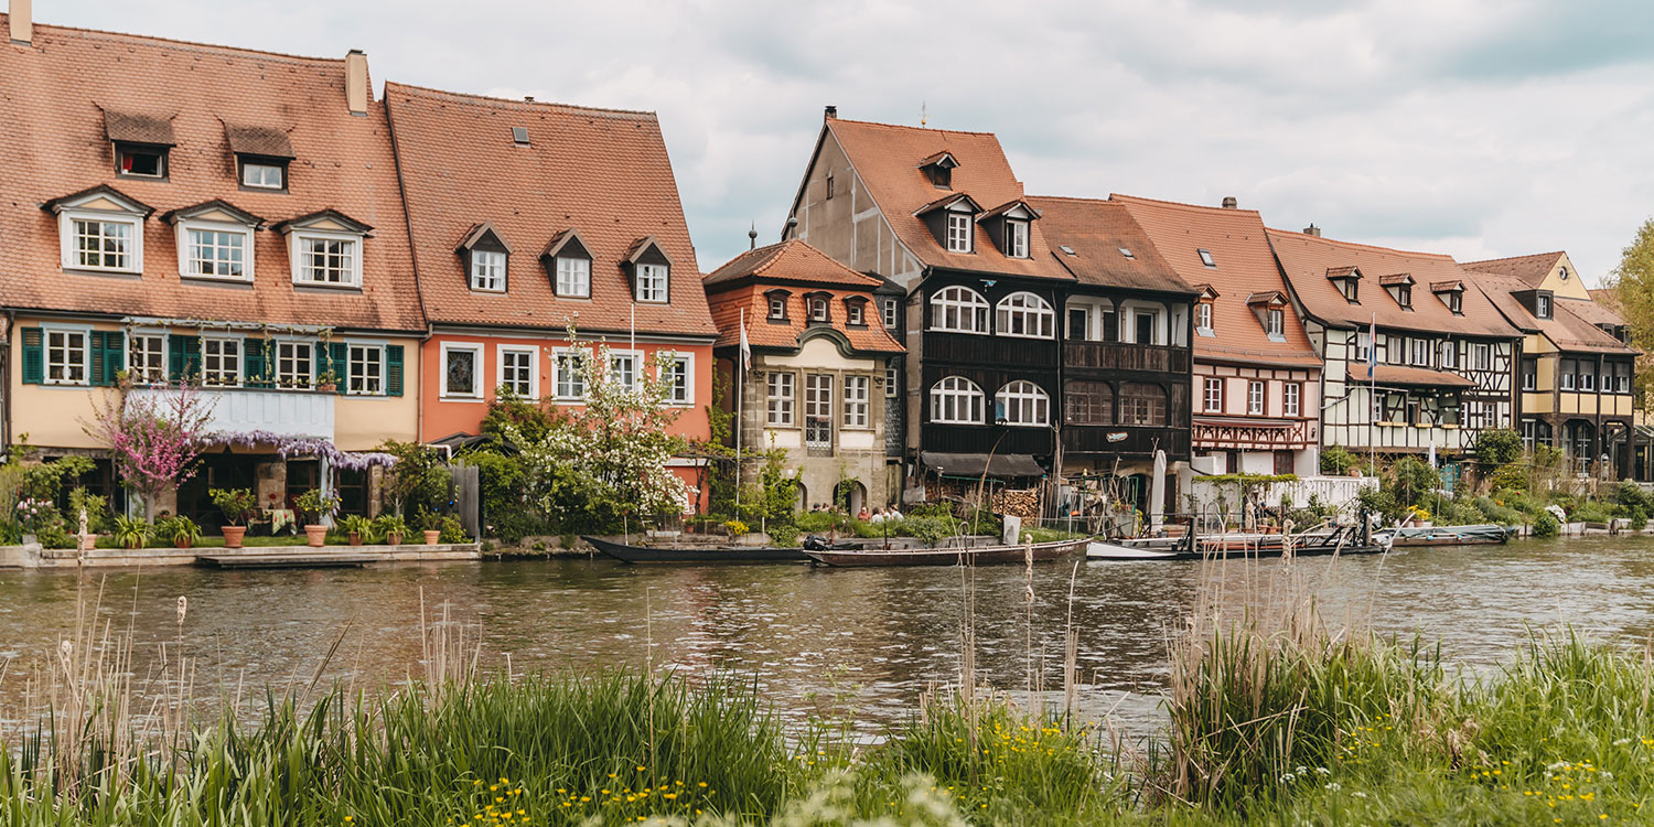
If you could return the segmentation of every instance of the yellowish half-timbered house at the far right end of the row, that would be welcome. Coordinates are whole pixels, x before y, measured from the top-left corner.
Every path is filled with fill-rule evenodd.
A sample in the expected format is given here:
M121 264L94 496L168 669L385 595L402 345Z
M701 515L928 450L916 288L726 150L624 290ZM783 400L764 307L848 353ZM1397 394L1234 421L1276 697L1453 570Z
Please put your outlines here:
M1505 321L1522 331L1517 430L1530 450L1560 448L1580 471L1632 476L1631 377L1637 351L1626 323L1591 299L1568 253L1462 265Z

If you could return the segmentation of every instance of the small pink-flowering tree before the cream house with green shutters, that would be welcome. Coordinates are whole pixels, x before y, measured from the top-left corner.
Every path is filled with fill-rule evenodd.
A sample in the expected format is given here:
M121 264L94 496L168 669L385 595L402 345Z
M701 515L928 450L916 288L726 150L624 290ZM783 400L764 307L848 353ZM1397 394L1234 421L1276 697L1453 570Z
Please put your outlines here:
M109 399L86 433L109 445L114 468L154 519L155 501L195 475L195 458L208 443L212 405L195 387L121 392Z

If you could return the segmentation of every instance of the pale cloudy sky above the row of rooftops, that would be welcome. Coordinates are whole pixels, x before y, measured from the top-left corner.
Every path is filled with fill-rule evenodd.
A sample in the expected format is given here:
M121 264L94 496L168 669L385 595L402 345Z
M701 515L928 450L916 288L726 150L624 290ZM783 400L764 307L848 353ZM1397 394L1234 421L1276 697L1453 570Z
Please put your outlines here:
M280 8L278 13L273 13ZM824 104L997 132L1027 192L1196 203L1446 251L1654 215L1647 0L35 0L41 23L299 55L375 83L653 109L703 270L786 218Z

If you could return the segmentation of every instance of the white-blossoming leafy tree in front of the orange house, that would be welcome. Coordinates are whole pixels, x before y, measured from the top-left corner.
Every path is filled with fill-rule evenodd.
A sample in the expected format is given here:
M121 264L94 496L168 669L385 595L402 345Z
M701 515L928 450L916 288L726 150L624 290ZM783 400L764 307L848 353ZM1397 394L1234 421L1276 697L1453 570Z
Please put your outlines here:
M552 359L574 359L579 387L564 394L571 405L539 438L504 425L508 442L523 453L526 498L566 526L605 529L622 521L683 514L690 488L667 463L683 447L668 433L683 409L668 404L670 377L662 366L672 354L643 362L614 354L604 342L581 342ZM556 364L552 375L556 375Z

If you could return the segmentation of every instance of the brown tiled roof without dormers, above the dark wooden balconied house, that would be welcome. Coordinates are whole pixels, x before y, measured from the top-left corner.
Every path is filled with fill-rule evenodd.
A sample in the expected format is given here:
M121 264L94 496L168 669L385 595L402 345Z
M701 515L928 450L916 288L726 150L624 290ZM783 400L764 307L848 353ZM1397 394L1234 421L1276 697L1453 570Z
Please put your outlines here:
M1197 293L1159 256L1123 203L1052 195L1032 197L1027 203L1040 212L1037 223L1045 228L1045 241L1057 246L1052 258L1080 284ZM1073 255L1064 248L1073 250ZM1131 258L1120 250L1130 250Z

